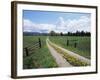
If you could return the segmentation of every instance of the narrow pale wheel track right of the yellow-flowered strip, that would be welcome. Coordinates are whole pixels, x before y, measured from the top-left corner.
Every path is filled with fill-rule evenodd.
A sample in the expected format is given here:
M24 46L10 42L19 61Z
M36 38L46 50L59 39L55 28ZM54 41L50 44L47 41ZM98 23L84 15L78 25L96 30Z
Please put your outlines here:
M62 47L60 47L60 46L58 46L58 45L52 43L52 42L49 40L49 38L48 38L48 41L50 42L50 44L54 45L55 47L58 47L59 49L61 49L61 50L63 50L64 52L68 53L69 55L71 55L71 56L73 56L73 57L79 59L80 61L86 62L86 63L89 64L89 65L91 64L91 61L90 61L89 59L87 59L87 58L85 58L85 57L83 57L83 56L80 56L80 55L78 55L78 54L76 54L76 53L74 53L74 52L72 52L72 51L69 51L69 50L67 50L67 49L64 49L64 48L62 48Z

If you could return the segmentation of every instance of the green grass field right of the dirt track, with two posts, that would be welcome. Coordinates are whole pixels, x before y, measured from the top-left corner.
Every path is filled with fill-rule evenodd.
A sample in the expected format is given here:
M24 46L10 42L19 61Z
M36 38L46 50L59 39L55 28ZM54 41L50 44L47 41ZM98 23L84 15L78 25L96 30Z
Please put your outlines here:
M90 37L76 37L76 36L50 36L50 41L53 43L66 48L70 51L73 51L79 55L82 55L86 58L91 58L91 42ZM69 40L69 45L67 45L67 40ZM75 47L75 43L77 43Z

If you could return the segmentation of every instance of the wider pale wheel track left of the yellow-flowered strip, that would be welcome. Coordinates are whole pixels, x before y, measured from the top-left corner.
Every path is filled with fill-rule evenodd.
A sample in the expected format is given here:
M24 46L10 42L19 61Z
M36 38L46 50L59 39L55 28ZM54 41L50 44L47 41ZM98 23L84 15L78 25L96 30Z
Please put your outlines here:
M72 66L62 57L62 55L60 55L52 46L49 45L48 39L46 39L46 44L59 67L71 67Z

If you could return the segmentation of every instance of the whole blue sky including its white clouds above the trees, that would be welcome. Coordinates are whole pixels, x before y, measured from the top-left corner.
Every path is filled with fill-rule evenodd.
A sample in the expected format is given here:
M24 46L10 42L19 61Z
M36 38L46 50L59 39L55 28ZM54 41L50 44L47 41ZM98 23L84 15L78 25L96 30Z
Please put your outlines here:
M23 10L24 32L90 32L90 24L90 13Z

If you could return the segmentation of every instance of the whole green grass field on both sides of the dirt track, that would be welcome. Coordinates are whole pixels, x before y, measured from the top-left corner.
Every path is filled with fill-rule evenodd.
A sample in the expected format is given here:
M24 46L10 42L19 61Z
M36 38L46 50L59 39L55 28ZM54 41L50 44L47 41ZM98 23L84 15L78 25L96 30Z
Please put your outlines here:
M23 47L33 47L33 45L39 41L39 38L41 39L41 48L34 47L34 50L29 50L28 56L26 56L26 52L23 49L23 69L58 67L46 45L47 36L23 36ZM49 39L51 42L63 48L73 51L86 58L91 58L90 37L49 36ZM68 45L67 40L69 40ZM75 43L77 43L76 47Z

